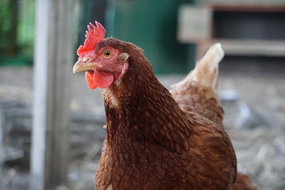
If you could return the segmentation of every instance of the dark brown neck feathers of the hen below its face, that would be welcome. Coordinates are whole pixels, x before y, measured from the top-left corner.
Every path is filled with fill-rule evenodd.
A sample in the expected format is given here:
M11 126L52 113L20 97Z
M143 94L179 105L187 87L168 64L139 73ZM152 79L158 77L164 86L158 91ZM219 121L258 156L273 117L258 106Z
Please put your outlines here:
M188 123L170 92L154 76L148 60L132 60L120 81L103 89L107 143L128 140L160 144L175 149L188 136Z

